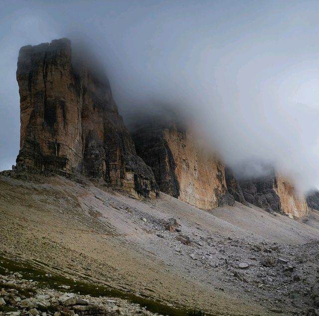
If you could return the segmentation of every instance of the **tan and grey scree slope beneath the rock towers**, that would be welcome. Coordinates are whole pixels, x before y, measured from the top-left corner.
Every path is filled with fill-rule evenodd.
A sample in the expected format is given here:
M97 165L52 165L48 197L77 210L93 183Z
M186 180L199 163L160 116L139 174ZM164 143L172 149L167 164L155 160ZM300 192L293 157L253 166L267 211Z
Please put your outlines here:
M213 315L319 315L319 212L202 211L63 177L0 176L0 252Z

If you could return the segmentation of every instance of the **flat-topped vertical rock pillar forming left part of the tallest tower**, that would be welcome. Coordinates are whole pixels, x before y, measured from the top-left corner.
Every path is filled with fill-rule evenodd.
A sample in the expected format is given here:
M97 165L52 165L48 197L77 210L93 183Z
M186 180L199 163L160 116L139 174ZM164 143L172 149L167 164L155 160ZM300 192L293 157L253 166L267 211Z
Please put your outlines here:
M72 173L82 158L82 99L66 39L19 51L20 152L17 166Z

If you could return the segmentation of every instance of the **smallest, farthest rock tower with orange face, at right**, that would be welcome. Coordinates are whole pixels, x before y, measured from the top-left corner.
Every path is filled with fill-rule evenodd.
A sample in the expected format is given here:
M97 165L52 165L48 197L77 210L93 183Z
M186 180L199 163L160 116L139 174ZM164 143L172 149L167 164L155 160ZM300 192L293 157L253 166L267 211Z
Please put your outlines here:
M246 201L268 212L285 213L297 218L308 214L305 198L299 196L288 180L275 172L239 183Z

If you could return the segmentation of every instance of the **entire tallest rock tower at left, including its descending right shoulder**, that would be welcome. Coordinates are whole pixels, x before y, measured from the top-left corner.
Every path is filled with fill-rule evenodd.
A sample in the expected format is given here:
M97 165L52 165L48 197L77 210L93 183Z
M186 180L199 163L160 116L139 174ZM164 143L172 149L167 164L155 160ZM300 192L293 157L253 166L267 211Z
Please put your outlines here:
M82 173L136 197L156 196L154 174L136 155L108 80L85 65L75 69L68 39L22 47L16 78L18 169Z

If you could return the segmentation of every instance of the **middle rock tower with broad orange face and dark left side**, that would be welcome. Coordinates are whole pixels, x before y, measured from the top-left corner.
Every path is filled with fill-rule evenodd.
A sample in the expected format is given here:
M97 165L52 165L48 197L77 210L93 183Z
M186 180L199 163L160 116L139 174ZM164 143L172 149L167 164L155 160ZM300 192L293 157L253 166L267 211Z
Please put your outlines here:
M153 121L133 133L138 155L150 165L160 190L201 209L234 204L224 166L205 153L193 136L174 124Z

